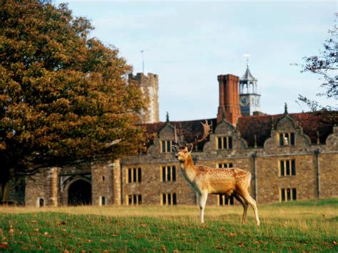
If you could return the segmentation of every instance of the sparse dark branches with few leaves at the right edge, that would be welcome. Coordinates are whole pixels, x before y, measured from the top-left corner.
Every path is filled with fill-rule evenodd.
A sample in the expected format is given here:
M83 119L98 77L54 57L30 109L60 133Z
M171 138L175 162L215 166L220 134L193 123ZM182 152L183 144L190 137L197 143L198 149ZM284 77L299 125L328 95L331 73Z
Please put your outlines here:
M338 21L338 14L336 21ZM304 64L302 65L302 72L311 72L319 75L322 81L323 93L317 95L324 95L327 98L334 98L338 100L338 26L337 22L334 28L329 30L329 38L324 42L324 48L319 51L317 56L304 57ZM330 106L321 106L317 101L310 100L304 95L299 95L298 98L303 103L306 103L312 111L337 110Z

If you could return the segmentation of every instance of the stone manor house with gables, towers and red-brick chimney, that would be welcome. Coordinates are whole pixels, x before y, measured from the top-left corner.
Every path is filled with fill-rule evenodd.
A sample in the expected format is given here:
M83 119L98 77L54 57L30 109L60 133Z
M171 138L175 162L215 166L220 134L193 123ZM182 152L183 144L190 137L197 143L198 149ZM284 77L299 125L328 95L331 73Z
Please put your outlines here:
M26 179L27 206L197 205L197 196L180 175L171 141L193 141L199 120L165 122L158 117L158 76L130 75L150 98L143 112L147 152L81 167L51 167ZM209 118L212 132L193 150L194 162L210 167L240 167L252 174L258 203L338 196L338 123L321 114L260 112L257 79L249 67L242 78L217 76L219 106ZM208 205L234 205L227 195L210 195Z

